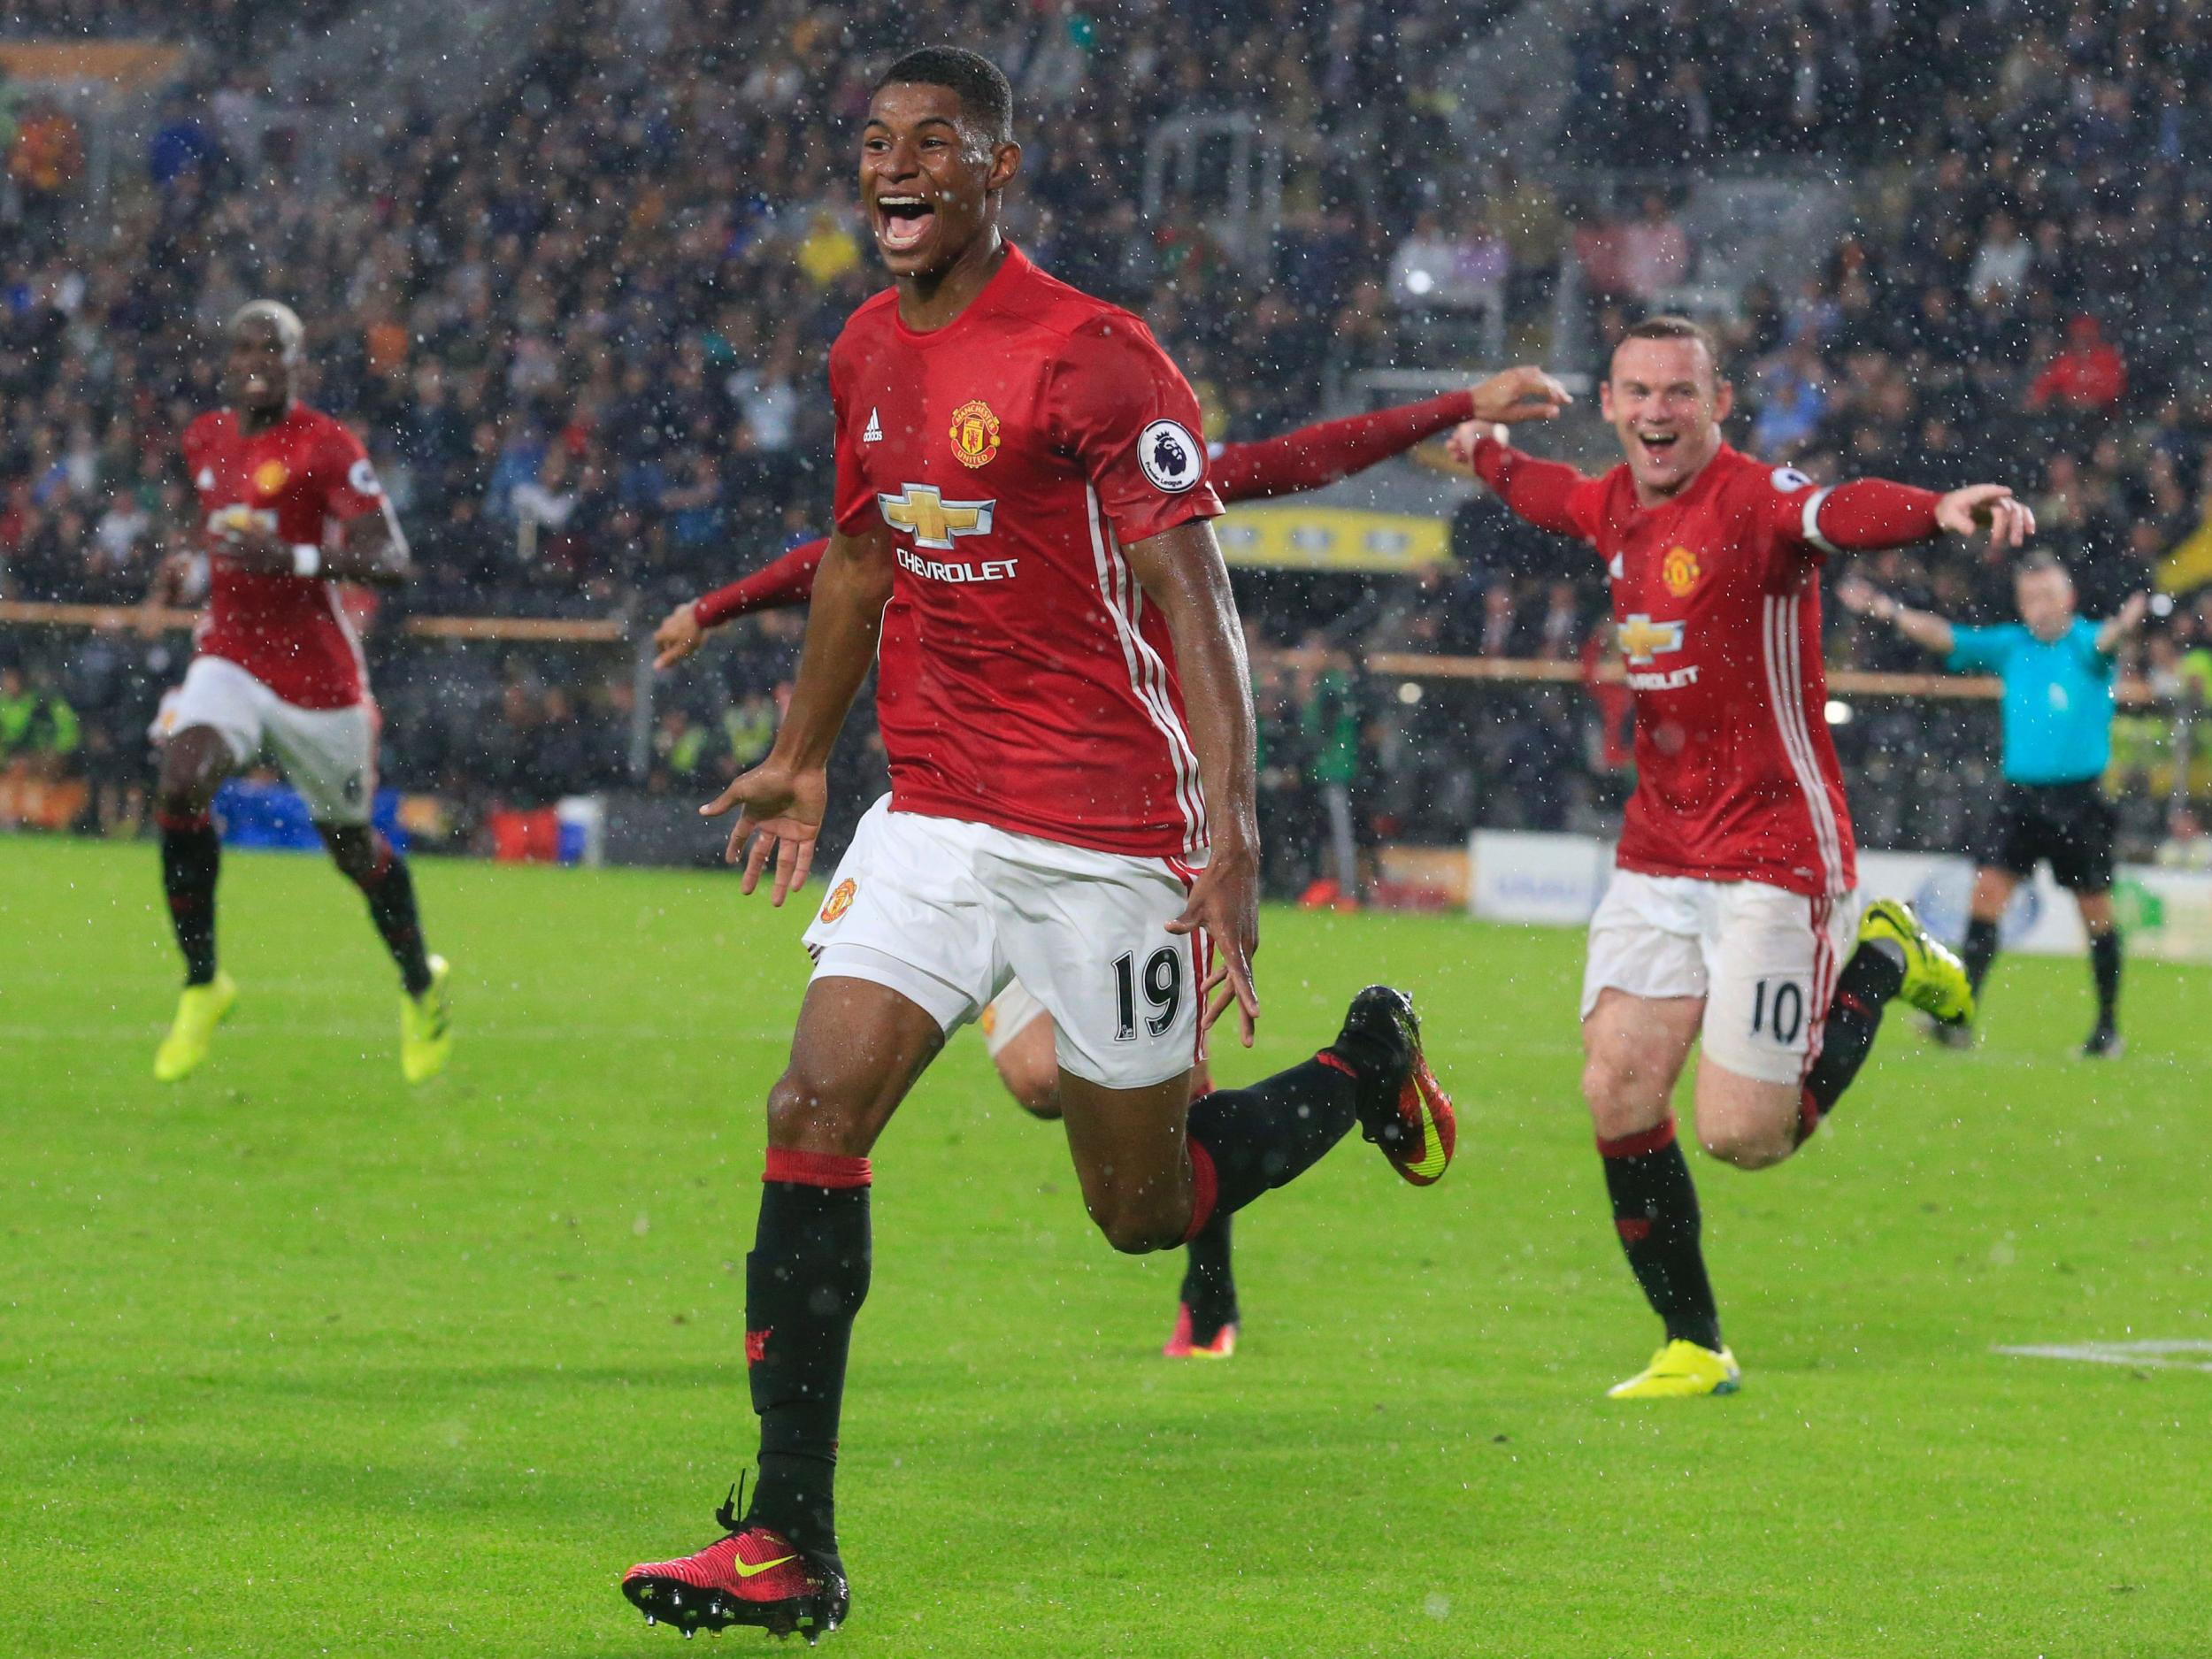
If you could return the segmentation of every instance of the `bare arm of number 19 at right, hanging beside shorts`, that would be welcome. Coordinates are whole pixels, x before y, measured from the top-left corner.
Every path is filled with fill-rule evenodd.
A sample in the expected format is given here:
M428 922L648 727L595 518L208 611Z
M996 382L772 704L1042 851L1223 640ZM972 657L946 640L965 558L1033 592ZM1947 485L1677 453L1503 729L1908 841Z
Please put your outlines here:
M1128 564L1168 624L1175 670L1183 684L1190 748L1206 787L1210 852L1190 887L1190 902L1168 925L1170 933L1203 931L1221 967L1201 995L1228 984L1203 1020L1212 1024L1237 1002L1243 1044L1252 1046L1259 995L1252 991L1252 953L1259 951L1259 785L1252 726L1252 670L1245 664L1237 597L1212 524L1186 520L1170 531L1133 542Z

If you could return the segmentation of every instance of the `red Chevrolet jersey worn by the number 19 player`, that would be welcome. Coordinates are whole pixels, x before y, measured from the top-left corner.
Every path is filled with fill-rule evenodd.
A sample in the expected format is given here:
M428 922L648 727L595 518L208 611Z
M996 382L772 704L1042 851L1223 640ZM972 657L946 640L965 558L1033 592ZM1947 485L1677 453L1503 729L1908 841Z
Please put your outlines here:
M894 292L830 352L836 524L889 526L876 721L891 805L1139 856L1206 845L1166 622L1124 546L1221 511L1150 330L1020 250L918 334Z

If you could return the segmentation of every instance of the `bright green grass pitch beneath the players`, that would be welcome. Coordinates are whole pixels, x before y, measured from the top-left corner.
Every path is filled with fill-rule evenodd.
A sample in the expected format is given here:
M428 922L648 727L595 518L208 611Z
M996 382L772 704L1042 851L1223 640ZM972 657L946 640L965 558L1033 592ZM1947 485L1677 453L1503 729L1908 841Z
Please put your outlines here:
M215 1062L148 1077L150 847L0 841L0 1652L668 1655L622 1568L745 1464L759 1106L803 916L703 874L418 865L449 1077L316 858L232 856ZM1893 1020L1781 1170L1699 1159L1730 1400L1619 1407L1657 1329L1575 1093L1579 938L1270 914L1256 1053L1411 987L1431 1192L1356 1139L1239 1219L1243 1352L1168 1365L1055 1128L960 1037L878 1148L847 1655L2203 1655L2212 973L2006 960ZM723 1635L754 1648L757 1632ZM703 1644L701 1644L703 1646Z

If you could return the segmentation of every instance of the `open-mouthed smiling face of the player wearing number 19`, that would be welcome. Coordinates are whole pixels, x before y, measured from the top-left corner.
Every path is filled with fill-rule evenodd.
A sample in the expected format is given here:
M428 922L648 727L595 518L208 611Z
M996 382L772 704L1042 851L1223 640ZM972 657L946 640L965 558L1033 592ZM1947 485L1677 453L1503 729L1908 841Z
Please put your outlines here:
M891 82L860 128L860 201L896 281L933 283L998 230L1022 146L993 144L951 86Z

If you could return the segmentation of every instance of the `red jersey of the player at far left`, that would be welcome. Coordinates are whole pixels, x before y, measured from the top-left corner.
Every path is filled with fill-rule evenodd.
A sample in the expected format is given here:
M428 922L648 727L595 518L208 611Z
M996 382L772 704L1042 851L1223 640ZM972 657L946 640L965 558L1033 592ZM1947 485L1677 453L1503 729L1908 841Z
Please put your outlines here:
M239 431L230 409L184 429L184 465L199 493L208 551L208 611L195 644L234 661L296 708L349 708L367 692L361 639L321 577L241 571L223 555L215 520L246 509L283 542L323 544L327 520L383 509L369 456L327 414L294 403L263 431Z

